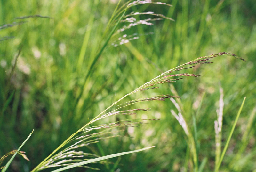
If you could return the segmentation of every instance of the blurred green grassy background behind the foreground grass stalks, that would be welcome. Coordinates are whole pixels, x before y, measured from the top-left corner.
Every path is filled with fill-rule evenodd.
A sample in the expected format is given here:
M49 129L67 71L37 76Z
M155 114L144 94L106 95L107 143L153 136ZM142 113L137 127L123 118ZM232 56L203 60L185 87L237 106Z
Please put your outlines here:
M84 77L93 57L102 46L102 40L106 39L104 31L117 1L0 0L1 26L26 21L0 30L0 156L17 149L35 129L22 147L30 161L16 156L10 171L33 169L69 135L89 122L89 119L162 72L197 57L223 51L235 53L247 62L220 56L213 59L213 64L188 70L189 73L200 74L200 77L187 77L173 85L182 97L181 102L186 111L183 115L192 131L192 115L196 114L202 101L201 110L196 116L196 126L199 163L206 159L203 171L214 169L214 120L217 118L220 87L224 90L225 103L223 145L242 100L246 97L220 171L256 169L256 122L251 115L256 105L255 2L161 2L172 4L173 7L143 4L134 6L132 11L154 11L173 18L175 22L164 19L155 21L153 26L132 27L125 33L138 33L140 38L117 47L111 46L118 39L117 35L114 36L83 87ZM51 18L15 19L35 14ZM146 19L152 16L137 17ZM148 34L150 32L153 34ZM5 36L13 38L2 40ZM21 53L10 78L20 47ZM82 88L83 95L75 105ZM161 85L159 89L147 90L129 98L158 94L172 94L170 85ZM9 97L11 98L8 99ZM8 101L9 104L5 106ZM156 147L146 152L111 159L113 163L119 161L114 170L190 171L191 159L186 135L170 113L174 109L172 102L166 100L136 104L134 108L151 108L150 112L139 113L138 116L161 120L128 130L125 135L132 136L132 139L115 138L103 142L101 146L104 154L152 145ZM252 118L249 119L250 115ZM118 117L111 120L117 120L116 118ZM242 141L250 120L252 126L248 129L248 137ZM234 161L242 145L245 148L241 157ZM103 155L102 151L99 154ZM113 164L109 166L112 168ZM104 165L98 168L102 171L111 169ZM92 170L76 168L73 171Z

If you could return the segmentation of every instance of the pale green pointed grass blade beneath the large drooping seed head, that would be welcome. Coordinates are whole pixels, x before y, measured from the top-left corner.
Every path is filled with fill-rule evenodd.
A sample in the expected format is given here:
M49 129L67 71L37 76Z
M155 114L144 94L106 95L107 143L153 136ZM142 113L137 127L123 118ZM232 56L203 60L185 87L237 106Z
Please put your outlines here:
M70 165L70 166L67 166L67 167L59 168L59 169L54 170L52 172L59 172L59 171L67 170L67 169L70 169L70 168L78 167L78 166L81 166L81 165L89 164L89 163L92 163L92 162L97 162L97 161L106 160L106 159L109 159L109 158L114 158L114 157L117 157L117 156L122 156L122 155L131 154L131 153L135 153L135 152L140 152L140 151L150 149L152 147L155 147L155 146L145 147L145 148L134 150L134 151L121 152L121 153L117 153L117 154L102 156L102 157L99 157L99 158L94 158L94 159L91 159L91 160L79 162L79 163L76 163L76 164L73 164L73 165Z

